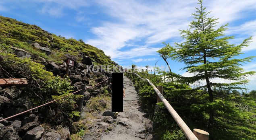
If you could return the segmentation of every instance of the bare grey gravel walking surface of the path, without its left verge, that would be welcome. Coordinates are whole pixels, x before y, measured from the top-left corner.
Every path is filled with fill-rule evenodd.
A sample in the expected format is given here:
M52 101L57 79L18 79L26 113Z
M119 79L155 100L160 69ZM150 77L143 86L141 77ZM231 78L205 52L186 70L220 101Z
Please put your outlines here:
M124 112L117 116L119 124L108 134L102 136L101 140L142 140L146 136L145 113L141 111L139 97L135 91L133 82L124 76L125 98ZM127 125L127 126L126 126Z

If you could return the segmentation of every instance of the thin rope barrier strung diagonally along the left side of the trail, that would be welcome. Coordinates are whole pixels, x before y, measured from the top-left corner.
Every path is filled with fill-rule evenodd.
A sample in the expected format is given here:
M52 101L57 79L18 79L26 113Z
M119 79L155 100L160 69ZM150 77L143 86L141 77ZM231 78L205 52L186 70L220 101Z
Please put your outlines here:
M101 81L101 82L99 82L99 83L97 83L97 84L100 84L100 83L102 83L102 82L104 82L104 81L106 81L106 80L108 80L108 79L109 79L109 78L107 78L107 79L105 79L105 80L103 80L103 81ZM92 85L92 86L96 86L97 84L94 84L94 85ZM88 87L85 88L85 89L88 89L89 87L92 87L92 86L88 86ZM69 95L66 95L66 96L64 96L64 97L61 97L60 99L63 99L63 98L65 98L65 97L68 97L68 96L70 96L70 95L72 95L72 94L74 94L74 93L77 93L77 92L81 91L81 90L82 90L82 89L79 89L78 91L75 91L75 92L73 92L73 93L70 93ZM55 102L55 101L58 101L58 100L60 100L60 99L56 99L56 100L50 101L50 102L48 102L48 103L45 103L45 104L43 104L43 105L40 105L40 106L34 107L34 108L32 108L32 109L23 111L23 112L21 112L21 113L12 115L12 116L10 116L10 117L6 117L5 119L1 119L0 122L1 122L1 121L4 121L4 120L6 120L6 119L10 119L10 118L12 118L12 117L16 117L16 116L21 115L21 114L23 114L23 113L32 111L32 110L37 109L37 108L39 108L39 107L42 107L42 106L44 106L44 105L48 105L48 104L53 103L53 102Z

